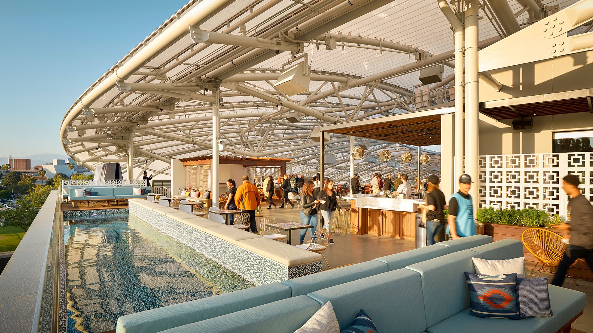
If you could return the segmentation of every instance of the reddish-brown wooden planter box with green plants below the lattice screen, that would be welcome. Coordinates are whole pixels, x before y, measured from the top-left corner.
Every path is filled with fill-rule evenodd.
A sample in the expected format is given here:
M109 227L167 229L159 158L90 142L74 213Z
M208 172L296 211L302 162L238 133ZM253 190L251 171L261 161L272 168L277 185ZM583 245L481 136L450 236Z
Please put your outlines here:
M511 238L521 241L521 234L525 229L531 227L526 226L511 226L511 225L498 225L496 223L484 223L484 235L492 236L493 241L500 241L501 239ZM557 230L551 229L551 231L558 233L561 236L568 235L568 230ZM523 246L523 252L525 254L525 266L529 267L527 273L531 273L531 268L537 262L537 259ZM585 261L581 260L576 264L575 267L569 268L569 273L575 278L581 278L583 280L593 281L593 274L589 270L588 265Z

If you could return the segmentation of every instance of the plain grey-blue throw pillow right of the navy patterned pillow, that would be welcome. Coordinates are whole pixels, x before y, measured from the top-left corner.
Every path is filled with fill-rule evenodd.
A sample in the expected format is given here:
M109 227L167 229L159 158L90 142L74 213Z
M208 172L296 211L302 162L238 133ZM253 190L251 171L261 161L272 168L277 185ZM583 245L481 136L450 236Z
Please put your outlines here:
M517 278L517 305L521 318L551 317L548 278Z

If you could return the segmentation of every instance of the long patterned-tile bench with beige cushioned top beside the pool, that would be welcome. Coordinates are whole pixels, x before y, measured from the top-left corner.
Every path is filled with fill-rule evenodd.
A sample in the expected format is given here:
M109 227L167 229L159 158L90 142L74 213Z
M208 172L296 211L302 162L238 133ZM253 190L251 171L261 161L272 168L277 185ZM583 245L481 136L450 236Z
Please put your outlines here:
M320 254L177 209L129 200L129 212L256 286L321 271Z

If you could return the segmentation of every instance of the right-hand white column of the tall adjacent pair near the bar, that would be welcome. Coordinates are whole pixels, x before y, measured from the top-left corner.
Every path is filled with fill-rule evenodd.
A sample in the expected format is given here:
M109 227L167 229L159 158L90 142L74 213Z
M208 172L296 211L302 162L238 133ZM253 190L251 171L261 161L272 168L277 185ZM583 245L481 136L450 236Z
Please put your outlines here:
M478 0L466 7L466 174L470 175L474 214L477 211L480 187L478 148ZM457 139L457 138L456 138Z

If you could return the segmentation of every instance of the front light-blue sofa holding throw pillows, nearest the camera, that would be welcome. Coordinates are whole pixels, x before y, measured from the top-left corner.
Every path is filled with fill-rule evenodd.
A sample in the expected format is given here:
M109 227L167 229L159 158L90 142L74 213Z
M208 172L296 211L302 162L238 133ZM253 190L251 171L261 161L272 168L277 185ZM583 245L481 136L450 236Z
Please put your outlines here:
M585 294L551 285L550 303L554 313L551 317L513 321L477 318L469 314L470 297L463 273L475 272L471 258L503 260L522 256L522 243L505 239L338 284L306 296L278 300L162 332L289 333L303 325L326 302L333 305L340 329L347 328L360 309L372 318L379 332L553 333L569 329L570 323L585 308Z

